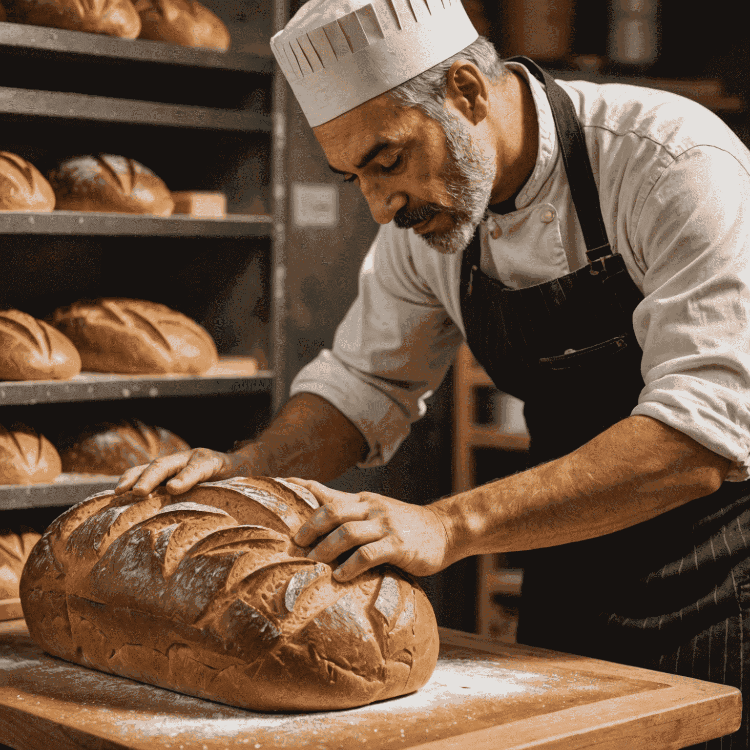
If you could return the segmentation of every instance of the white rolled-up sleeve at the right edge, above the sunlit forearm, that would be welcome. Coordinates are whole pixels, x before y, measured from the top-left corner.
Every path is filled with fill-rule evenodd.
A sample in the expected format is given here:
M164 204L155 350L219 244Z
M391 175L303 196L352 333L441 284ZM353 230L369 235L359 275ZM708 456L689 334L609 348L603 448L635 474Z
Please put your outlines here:
M750 177L733 155L696 146L655 179L632 250L646 270L634 329L651 416L750 476Z

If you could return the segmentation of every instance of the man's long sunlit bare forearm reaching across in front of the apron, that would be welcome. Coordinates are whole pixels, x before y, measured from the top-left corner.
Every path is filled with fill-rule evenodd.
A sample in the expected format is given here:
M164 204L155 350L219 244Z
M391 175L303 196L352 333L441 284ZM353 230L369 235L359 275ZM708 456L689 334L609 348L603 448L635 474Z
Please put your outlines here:
M729 465L679 431L632 416L571 454L431 507L455 562L619 531L714 492Z

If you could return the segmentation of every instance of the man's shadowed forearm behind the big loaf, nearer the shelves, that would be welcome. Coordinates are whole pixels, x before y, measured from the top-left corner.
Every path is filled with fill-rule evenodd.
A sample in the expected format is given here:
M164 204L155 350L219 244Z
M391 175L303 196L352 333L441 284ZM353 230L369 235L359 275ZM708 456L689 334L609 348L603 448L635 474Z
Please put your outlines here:
M367 453L359 430L324 398L300 393L256 439L233 451L240 474L300 476L326 482Z

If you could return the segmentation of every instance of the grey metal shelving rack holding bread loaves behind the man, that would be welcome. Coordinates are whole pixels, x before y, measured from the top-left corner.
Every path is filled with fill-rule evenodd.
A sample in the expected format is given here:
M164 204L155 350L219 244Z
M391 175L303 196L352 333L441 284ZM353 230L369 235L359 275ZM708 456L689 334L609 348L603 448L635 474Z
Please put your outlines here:
M229 3L223 4L229 7ZM287 3L275 0L274 17L270 23L283 26L287 19ZM248 46L257 49L247 51ZM50 133L59 128L65 133L80 133L80 127L89 128L94 135L104 133L113 142L109 149L114 153L123 153L115 148L118 136L130 131L130 143L137 143L143 133L154 133L154 128L161 133L175 134L181 138L181 144L198 142L208 151L205 160L211 160L213 154L220 154L223 144L235 148L237 156L233 161L223 162L214 168L214 172L231 172L237 164L242 166L242 158L247 153L243 148L252 145L257 136L270 141L269 164L266 172L272 173L272 211L264 214L230 213L224 219L196 218L181 215L171 217L154 217L133 214L86 213L77 211L52 212L0 212L0 235L4 236L5 248L13 251L13 242L26 242L21 254L33 252L28 250L32 238L62 239L65 242L127 242L128 238L137 238L139 242L188 242L211 241L206 251L211 252L213 242L248 241L266 242L269 248L269 278L265 284L269 295L269 361L272 368L278 367L283 353L275 339L281 330L278 311L284 304L284 272L282 248L284 242L285 189L284 189L284 83L274 80L275 63L269 46L245 45L245 51L216 52L208 49L191 49L174 44L152 42L147 40L128 40L107 37L101 34L87 34L78 31L65 31L56 28L24 26L13 23L0 23L0 56L7 62L16 61L16 71L31 61L30 69L40 69L40 65L77 66L83 70L86 66L109 66L109 71L124 71L127 66L140 66L139 70L148 68L154 77L164 76L171 81L178 81L184 89L183 97L190 95L190 77L205 83L216 80L217 85L226 81L229 97L239 97L239 104L232 107L196 106L181 101L154 101L159 97L158 86L153 81L144 81L145 96L133 95L132 87L125 87L127 96L101 95L101 92L68 90L46 90L49 86L46 76L26 74L20 79L24 86L0 87L0 121L10 124L13 135L10 146L0 142L0 149L17 150L17 143L28 145L33 154L34 138L38 142L38 133ZM37 68L34 68L34 65ZM133 68L135 70L136 68ZM23 76L23 74L22 74ZM211 79L211 76L214 79ZM31 80L31 86L28 81ZM247 83L245 83L247 82ZM260 83L259 83L260 82ZM37 88L38 83L38 88ZM269 110L254 106L251 101L242 100L242 86L247 85L257 90L265 90L270 99ZM151 89L148 89L151 86ZM58 83L58 89L61 86ZM86 86L83 86L86 89ZM204 87L206 90L210 87ZM116 86L115 86L116 89ZM154 93L156 92L156 93ZM173 96L168 85L163 86L165 98ZM185 93L187 92L187 94ZM205 95L208 96L208 95ZM263 99L263 97L261 97ZM280 114L281 113L281 114ZM28 136L24 135L26 124ZM111 130L107 130L111 128ZM21 133L21 136L18 135ZM109 133L109 135L108 135ZM192 133L192 134L190 134ZM36 134L36 135L34 135ZM27 138L28 144L23 140ZM161 136L169 145L169 136ZM221 139L224 139L223 141ZM217 145L217 143L219 145ZM239 145L238 145L239 144ZM178 148L175 145L175 148ZM50 146L51 150L52 147ZM19 149L20 150L20 149ZM92 151L102 150L92 148ZM268 154L265 146L260 151ZM154 149L157 153L158 149ZM22 154L23 155L23 154ZM124 155L131 155L124 152ZM194 161L196 157L190 154ZM34 157L26 155L34 161ZM199 160L199 159L198 159ZM144 160L147 166L148 162ZM175 159L175 163L177 160ZM229 166L228 166L229 165ZM205 165L204 165L205 166ZM209 165L211 166L211 165ZM158 173L158 169L154 169ZM178 177L179 171L175 172ZM211 169L197 172L199 175L211 175L215 182L222 178ZM183 175L184 176L184 175ZM179 181L178 178L175 178ZM202 176L196 178L198 183ZM204 180L205 181L205 180ZM169 182L167 183L169 184ZM169 184L169 187L173 187ZM196 184L194 189L211 189ZM180 189L179 187L177 189ZM232 210L230 204L229 210ZM32 246L33 247L33 246ZM154 245L158 247L158 245ZM233 244L230 250L242 248ZM175 253L172 252L172 258ZM59 272L65 275L65 259L60 260ZM279 268L281 267L281 272ZM276 280L275 289L274 281ZM281 284L279 283L281 281ZM29 290L31 293L31 290ZM133 296L138 296L133 294ZM70 300L71 302L73 299ZM0 300L0 307L5 301ZM10 305L16 306L16 305ZM20 305L18 305L20 306ZM33 311L32 311L33 312ZM154 403L161 399L172 400L172 403L184 403L180 399L202 397L233 397L251 399L265 397L273 404L275 394L275 377L273 370L248 371L248 360L238 356L223 356L214 371L201 377L190 376L117 376L107 374L82 373L68 381L23 381L0 383L0 407L8 407L17 416L20 409L38 409L41 405L50 408L94 409L92 402L118 402L141 399L139 404ZM278 388L276 388L278 391ZM204 399L205 401L205 399ZM166 402L164 402L166 403ZM249 402L245 402L249 403ZM66 406L67 405L67 406ZM0 411L0 422L3 413ZM26 414L28 412L21 412ZM28 422L33 425L34 419L29 413ZM103 419L107 416L103 413ZM169 427L169 425L164 425ZM236 437L236 436L235 436ZM60 475L55 481L47 484L0 485L0 511L18 510L20 508L43 508L46 506L71 505L79 502L91 493L107 490L115 485L116 478L101 475ZM0 514L0 526L2 516Z

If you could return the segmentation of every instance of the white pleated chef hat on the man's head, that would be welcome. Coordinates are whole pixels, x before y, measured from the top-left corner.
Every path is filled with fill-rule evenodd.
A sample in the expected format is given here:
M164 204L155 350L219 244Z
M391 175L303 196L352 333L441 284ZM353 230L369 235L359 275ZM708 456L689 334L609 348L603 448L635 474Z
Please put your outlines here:
M275 34L271 49L315 127L477 37L460 0L310 0Z

